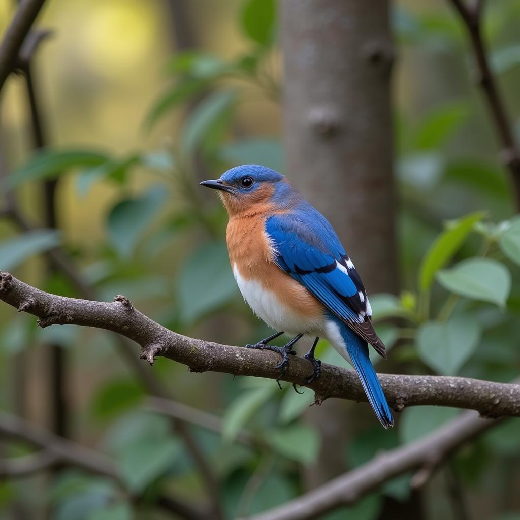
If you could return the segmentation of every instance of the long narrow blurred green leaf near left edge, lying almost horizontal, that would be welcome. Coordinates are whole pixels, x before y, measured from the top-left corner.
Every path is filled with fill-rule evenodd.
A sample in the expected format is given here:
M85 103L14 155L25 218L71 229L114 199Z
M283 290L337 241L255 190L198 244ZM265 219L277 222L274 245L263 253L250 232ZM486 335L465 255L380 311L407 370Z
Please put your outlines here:
M29 180L43 180L55 178L72 168L99 166L110 160L105 153L90 150L53 150L44 149L7 178L9 188L14 188Z

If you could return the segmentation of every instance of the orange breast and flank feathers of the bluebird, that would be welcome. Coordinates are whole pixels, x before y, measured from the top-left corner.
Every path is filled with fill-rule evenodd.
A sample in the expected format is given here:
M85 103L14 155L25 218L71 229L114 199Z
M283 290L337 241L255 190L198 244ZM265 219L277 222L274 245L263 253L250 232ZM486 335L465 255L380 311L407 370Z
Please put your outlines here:
M274 262L273 248L265 231L265 221L272 215L272 209L265 206L264 211L257 206L254 214L230 217L226 240L231 268L238 271L242 280L255 281L265 291L274 293L279 303L296 315L321 321L323 305ZM250 298L244 293L243 296L251 305Z

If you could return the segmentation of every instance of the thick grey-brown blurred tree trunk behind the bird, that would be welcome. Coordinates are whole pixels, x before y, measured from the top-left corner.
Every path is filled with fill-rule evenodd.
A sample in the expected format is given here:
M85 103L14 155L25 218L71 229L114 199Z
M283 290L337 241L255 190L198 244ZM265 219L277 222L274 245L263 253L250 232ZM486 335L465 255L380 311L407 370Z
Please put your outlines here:
M395 292L388 2L282 0L281 7L287 173L330 220L369 293ZM345 470L348 415L337 401L310 409L323 448L309 486Z

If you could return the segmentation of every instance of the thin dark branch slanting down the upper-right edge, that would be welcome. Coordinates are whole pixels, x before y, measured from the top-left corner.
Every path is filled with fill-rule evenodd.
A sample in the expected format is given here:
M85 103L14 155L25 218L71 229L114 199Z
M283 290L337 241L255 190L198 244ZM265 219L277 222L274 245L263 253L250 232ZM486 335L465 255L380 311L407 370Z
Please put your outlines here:
M495 123L502 146L501 160L511 174L515 187L516 205L520 207L520 150L515 141L504 100L500 95L486 55L481 24L483 2L476 0L473 5L469 5L464 0L451 0L451 3L459 13L470 36L479 72L478 83L483 89L491 118Z

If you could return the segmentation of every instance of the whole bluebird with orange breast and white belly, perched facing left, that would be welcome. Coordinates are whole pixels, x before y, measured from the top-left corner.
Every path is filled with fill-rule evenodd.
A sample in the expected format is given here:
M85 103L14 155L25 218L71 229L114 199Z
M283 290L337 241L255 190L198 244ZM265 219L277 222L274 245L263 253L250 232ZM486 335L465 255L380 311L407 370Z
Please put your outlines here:
M229 214L229 260L244 300L277 331L246 346L281 354L281 378L294 344L304 335L315 337L305 355L313 365L309 384L320 373L318 339L326 338L355 368L381 424L393 426L368 349L372 345L386 359L385 346L372 326L367 291L328 220L286 177L258 164L200 184L219 190ZM283 347L268 344L283 333L294 337Z

